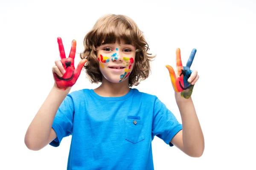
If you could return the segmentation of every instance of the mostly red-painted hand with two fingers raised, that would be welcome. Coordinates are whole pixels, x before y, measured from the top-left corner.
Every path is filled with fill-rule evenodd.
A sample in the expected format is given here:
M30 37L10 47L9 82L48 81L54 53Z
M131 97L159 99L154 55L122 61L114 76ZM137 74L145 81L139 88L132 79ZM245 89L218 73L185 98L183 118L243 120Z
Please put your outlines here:
M82 59L75 69L74 59L76 54L76 40L72 41L68 58L66 58L61 38L58 37L57 40L61 60L55 61L55 65L52 67L52 73L55 79L55 87L61 90L66 90L76 83L84 64L87 62L87 59Z

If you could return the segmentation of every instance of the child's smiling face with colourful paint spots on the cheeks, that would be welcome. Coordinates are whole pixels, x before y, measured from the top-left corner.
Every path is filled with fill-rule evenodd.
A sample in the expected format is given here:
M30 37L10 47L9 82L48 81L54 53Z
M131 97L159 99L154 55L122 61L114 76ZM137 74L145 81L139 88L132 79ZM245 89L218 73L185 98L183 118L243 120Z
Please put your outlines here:
M133 45L122 41L121 44L116 42L98 46L96 51L99 69L105 79L113 83L127 79L134 67L135 50Z

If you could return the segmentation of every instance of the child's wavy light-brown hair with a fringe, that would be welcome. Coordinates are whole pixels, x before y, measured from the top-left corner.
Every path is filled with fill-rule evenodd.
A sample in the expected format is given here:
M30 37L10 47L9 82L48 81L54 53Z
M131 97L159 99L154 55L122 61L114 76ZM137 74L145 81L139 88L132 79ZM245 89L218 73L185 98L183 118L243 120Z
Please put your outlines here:
M134 68L129 75L129 87L139 85L151 73L150 61L156 57L148 53L148 43L143 32L136 23L125 15L108 14L99 18L92 30L84 37L84 51L81 59L87 59L84 65L85 72L91 83L102 82L102 73L99 70L99 61L96 56L96 47L106 43L124 41L136 47Z

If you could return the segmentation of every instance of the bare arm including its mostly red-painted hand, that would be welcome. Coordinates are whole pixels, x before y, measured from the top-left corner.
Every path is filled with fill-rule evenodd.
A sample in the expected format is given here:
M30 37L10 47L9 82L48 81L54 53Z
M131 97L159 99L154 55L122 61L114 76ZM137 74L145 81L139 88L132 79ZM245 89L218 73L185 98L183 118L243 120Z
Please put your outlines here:
M56 112L70 92L70 87L76 83L81 69L85 62L87 62L87 59L82 59L75 69L76 40L72 41L68 58L65 56L61 38L58 37L57 40L61 60L56 60L55 65L52 67L52 73L55 79L54 87L26 131L24 140L30 150L40 150L56 138L57 135L52 129Z

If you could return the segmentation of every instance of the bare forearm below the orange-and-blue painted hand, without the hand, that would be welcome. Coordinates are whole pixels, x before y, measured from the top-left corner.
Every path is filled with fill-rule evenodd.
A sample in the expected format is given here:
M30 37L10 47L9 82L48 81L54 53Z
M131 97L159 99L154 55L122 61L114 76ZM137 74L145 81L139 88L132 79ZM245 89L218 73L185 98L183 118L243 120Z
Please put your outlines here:
M204 135L192 99L176 96L176 102L182 119L184 151L191 156L201 156L204 152Z

